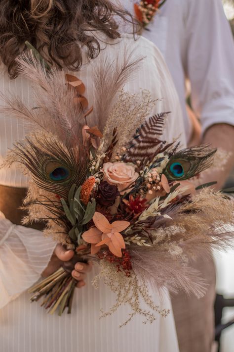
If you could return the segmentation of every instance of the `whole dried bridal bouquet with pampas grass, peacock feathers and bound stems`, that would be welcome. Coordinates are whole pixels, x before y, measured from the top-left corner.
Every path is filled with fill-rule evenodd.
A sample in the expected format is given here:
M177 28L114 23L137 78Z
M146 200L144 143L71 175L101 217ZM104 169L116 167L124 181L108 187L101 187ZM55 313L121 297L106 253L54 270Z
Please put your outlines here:
M74 263L92 258L100 265L93 284L103 278L117 294L116 304L102 314L128 303L126 322L137 313L152 322L154 312L168 311L154 304L150 290L202 296L205 284L189 259L231 241L226 224L233 224L233 201L209 184L195 187L195 176L211 165L215 150L179 150L176 141L167 143L162 133L169 112L151 116L157 101L150 92L122 89L140 61L125 53L123 62L93 64L95 92L88 107L82 81L24 54L19 72L32 79L34 106L4 97L1 111L31 128L5 160L31 176L24 222L46 221L44 235L77 253L74 262L30 290L32 301L44 297L50 313L61 315L66 307L71 312Z

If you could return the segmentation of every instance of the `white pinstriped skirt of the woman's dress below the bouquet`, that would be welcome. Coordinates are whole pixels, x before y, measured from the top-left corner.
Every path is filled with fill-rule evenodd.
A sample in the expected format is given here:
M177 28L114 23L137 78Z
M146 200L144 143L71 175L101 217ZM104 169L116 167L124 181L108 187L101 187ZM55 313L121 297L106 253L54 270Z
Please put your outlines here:
M172 315L157 316L149 325L135 317L120 329L118 324L128 314L125 307L99 320L99 309L108 309L115 296L102 284L98 292L92 287L90 281L97 270L90 274L84 289L76 290L71 315L47 314L39 302L29 304L27 293L2 308L2 352L178 352ZM161 306L170 307L166 296Z

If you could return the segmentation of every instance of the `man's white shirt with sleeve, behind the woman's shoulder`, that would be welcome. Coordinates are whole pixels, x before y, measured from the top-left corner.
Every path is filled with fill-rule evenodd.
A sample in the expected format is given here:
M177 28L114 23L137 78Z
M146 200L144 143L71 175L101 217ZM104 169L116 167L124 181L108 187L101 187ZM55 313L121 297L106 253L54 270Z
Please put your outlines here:
M121 2L134 13L136 0ZM234 125L234 40L221 0L166 0L142 35L165 58L181 101L187 140L186 78L203 132L216 123Z

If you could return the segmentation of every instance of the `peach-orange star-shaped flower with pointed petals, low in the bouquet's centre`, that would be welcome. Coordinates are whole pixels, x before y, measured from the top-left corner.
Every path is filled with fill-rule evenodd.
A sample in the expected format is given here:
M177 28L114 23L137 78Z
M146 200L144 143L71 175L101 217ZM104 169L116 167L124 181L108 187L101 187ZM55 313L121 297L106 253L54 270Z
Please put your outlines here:
M106 245L114 255L121 257L121 249L125 248L125 243L120 232L125 230L130 222L121 220L110 224L107 218L97 211L93 215L93 222L95 227L91 227L82 235L84 241L91 243L91 254L96 254L101 246Z

